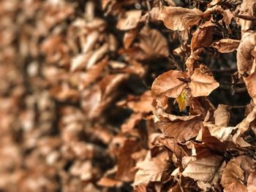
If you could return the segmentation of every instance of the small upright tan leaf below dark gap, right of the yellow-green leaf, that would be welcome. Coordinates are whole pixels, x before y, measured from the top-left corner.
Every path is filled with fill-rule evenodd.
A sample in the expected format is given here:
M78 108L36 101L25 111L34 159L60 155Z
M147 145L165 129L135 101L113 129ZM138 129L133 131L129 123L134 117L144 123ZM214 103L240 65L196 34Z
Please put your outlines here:
M217 110L214 111L215 124L217 126L228 126L230 121L229 107L225 104L219 104Z

